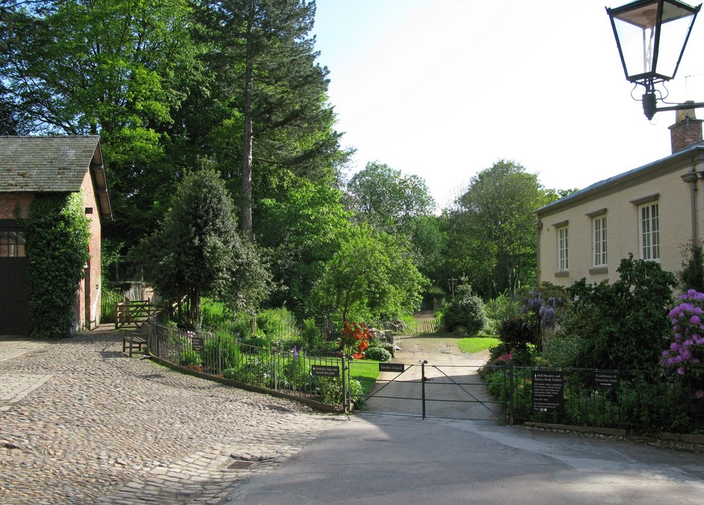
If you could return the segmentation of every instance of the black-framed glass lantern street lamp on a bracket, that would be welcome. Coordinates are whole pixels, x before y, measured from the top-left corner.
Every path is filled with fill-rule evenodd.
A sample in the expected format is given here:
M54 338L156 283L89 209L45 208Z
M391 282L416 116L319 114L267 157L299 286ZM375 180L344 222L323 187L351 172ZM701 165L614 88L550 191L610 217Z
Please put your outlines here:
M679 0L637 0L606 8L626 79L646 89L643 112L648 120L662 110L704 107L704 103L689 103L658 108L655 96L655 84L677 73L700 8L701 4L692 7Z

